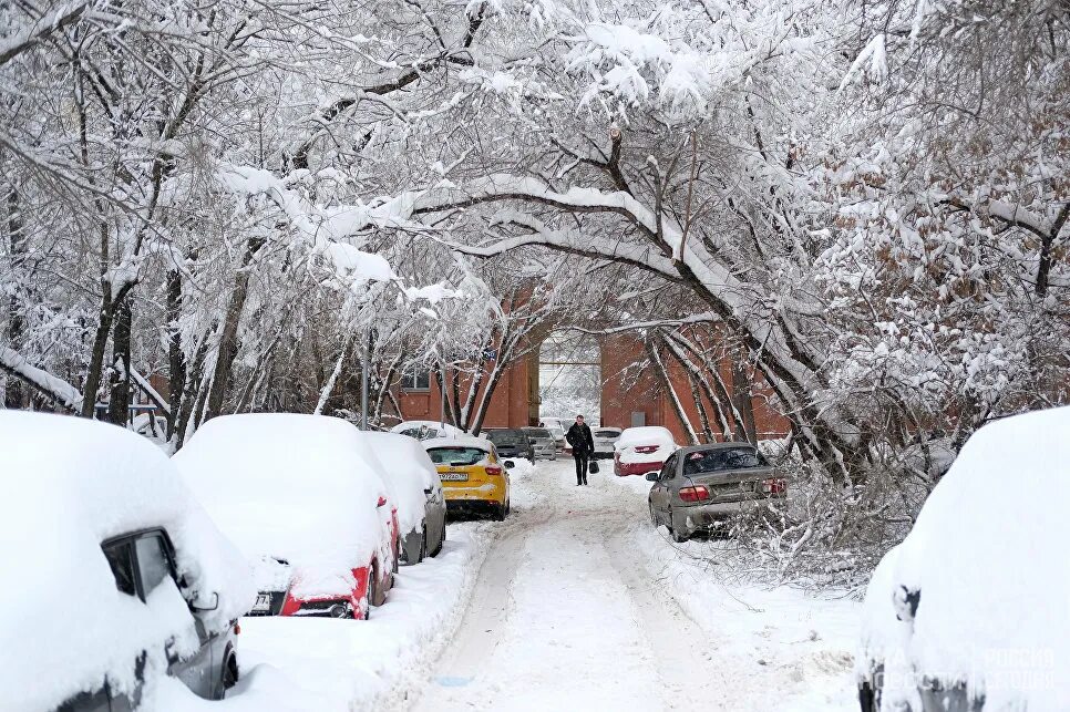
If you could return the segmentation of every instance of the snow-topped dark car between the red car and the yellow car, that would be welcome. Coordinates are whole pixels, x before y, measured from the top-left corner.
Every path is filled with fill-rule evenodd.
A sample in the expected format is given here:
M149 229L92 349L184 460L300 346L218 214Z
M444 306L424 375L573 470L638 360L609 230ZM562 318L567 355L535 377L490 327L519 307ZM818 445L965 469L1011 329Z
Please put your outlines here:
M401 558L419 564L445 541L445 494L434 463L419 441L397 433L361 433L383 464L383 477L401 527Z

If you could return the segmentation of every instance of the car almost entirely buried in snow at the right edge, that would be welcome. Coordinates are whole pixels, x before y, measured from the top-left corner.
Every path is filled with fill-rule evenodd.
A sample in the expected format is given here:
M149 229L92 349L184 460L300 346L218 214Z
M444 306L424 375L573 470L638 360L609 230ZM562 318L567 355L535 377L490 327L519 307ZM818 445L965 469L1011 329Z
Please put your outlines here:
M1070 407L985 425L866 591L861 709L1068 709Z

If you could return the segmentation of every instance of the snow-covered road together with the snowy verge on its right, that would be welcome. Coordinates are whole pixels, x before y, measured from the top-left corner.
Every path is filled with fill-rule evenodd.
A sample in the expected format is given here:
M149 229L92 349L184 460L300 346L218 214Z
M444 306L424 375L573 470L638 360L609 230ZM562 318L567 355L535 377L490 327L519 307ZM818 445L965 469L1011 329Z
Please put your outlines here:
M576 487L568 460L515 485L415 710L855 708L858 603L719 584L702 543L649 525L638 477Z

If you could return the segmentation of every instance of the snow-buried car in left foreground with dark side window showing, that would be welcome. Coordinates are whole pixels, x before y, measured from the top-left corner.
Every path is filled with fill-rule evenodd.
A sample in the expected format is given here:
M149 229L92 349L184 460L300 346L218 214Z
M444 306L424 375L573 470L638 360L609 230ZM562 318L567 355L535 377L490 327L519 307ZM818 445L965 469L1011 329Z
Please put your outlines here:
M0 710L163 709L164 687L224 696L251 571L163 451L0 411Z

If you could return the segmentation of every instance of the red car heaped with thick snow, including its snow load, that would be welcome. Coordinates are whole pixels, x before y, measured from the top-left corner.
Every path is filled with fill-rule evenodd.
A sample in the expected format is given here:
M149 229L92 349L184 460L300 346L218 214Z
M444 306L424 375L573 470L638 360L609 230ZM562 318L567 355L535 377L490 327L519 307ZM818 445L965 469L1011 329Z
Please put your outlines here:
M253 561L253 616L368 618L399 556L382 465L350 423L224 415L173 457L219 528Z

